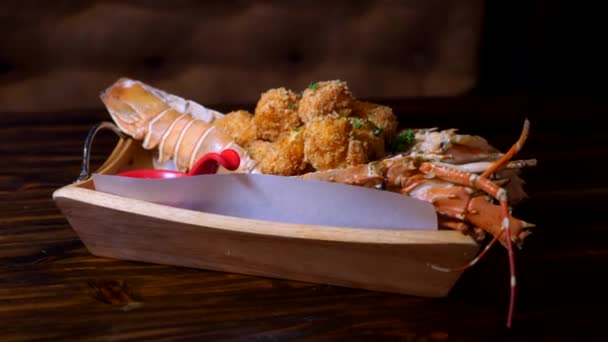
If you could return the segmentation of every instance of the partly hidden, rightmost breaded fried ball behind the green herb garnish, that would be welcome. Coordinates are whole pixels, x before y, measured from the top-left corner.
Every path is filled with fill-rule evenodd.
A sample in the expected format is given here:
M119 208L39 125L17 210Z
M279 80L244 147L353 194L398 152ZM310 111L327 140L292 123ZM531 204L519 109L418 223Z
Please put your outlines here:
M382 106L372 102L355 101L353 103L353 116L367 119L372 122L386 143L391 142L397 134L397 117L388 106Z

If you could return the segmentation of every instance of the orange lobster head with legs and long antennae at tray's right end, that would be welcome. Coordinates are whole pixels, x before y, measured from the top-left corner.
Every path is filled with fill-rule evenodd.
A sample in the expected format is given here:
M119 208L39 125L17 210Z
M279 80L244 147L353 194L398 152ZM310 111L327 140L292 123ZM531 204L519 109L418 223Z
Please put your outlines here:
M491 234L493 239L466 265L456 268L429 266L443 272L464 271L500 242L507 248L509 257L511 295L507 326L511 327L517 282L513 245L521 248L530 234L529 228L534 225L514 218L510 205L526 196L517 176L519 169L536 165L534 159L511 159L523 147L529 125L526 120L519 139L504 154L479 136L457 135L455 130L419 130L413 146L400 155L301 177L400 192L432 203L443 227L472 235L478 241L485 238L485 233ZM490 177L495 179L490 180ZM510 191L502 184L510 185ZM510 198L509 192L515 196Z

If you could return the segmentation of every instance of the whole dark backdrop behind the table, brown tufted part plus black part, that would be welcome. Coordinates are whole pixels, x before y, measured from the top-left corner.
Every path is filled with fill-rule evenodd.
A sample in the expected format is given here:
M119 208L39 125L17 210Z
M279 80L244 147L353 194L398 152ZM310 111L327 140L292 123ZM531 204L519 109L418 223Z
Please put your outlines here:
M360 98L601 96L601 15L543 0L8 0L0 110L101 108L122 76L206 105L334 78Z

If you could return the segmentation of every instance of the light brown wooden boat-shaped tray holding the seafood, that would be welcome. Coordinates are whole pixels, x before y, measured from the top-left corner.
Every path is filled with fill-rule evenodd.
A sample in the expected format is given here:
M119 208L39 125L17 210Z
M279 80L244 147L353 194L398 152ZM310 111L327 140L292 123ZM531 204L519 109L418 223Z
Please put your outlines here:
M152 152L121 138L96 173L152 167ZM56 205L93 255L423 297L446 296L479 251L450 230L396 231L222 216L95 191L87 178L57 189Z

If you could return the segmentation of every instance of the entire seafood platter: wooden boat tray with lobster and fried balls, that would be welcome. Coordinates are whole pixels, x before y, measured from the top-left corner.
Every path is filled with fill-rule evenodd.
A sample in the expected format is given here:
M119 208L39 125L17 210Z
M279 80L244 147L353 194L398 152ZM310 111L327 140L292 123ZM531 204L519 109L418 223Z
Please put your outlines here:
M527 120L499 151L455 128L402 128L340 80L268 89L252 111L129 78L101 101L108 121L89 133L81 176L53 193L93 255L444 297L503 247L510 325L514 253L533 227L511 214L536 163L515 159ZM120 138L90 172L101 129Z

